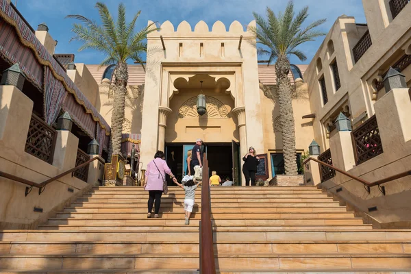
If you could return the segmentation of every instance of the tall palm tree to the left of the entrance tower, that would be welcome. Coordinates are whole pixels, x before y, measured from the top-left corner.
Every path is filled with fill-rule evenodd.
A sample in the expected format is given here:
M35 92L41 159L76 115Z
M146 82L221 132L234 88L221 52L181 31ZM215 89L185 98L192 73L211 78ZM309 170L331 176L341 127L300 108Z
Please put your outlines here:
M141 11L138 11L130 23L125 20L125 5L119 4L119 13L117 21L114 22L110 11L104 3L97 2L95 8L99 11L102 25L98 25L94 20L85 16L73 14L67 18L75 18L81 23L73 24L71 31L75 34L72 40L83 43L79 51L84 49L95 49L105 54L105 60L101 66L116 64L114 71L114 104L111 121L111 147L109 161L112 153L121 151L121 133L123 129L123 119L125 112L125 96L127 93L128 68L127 61L134 60L140 64L142 62L142 53L147 52L147 42L145 38L150 32L157 31L155 23L144 27L140 32L135 33L136 21ZM143 66L143 65L142 65ZM144 66L143 66L144 69Z

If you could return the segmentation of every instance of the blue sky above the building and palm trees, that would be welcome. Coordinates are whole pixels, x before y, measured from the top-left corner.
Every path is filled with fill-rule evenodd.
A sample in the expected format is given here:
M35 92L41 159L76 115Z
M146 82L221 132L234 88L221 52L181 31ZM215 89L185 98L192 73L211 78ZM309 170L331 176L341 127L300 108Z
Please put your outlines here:
M112 15L116 16L117 6L121 1L101 1L108 5ZM16 0L12 0L12 3L15 2ZM123 0L122 2L126 5L128 20L141 10L136 29L147 25L149 20L159 23L169 20L175 28L185 20L190 23L192 29L201 20L210 27L218 20L225 23L226 27L234 20L242 25L248 25L253 20L252 12L265 14L266 6L269 6L277 13L284 10L287 3L286 0ZM361 0L295 0L294 2L297 11L304 5L309 6L310 16L306 23L327 18L327 22L320 28L323 32L328 32L336 18L343 14L356 17L357 23L366 22ZM51 36L58 40L55 53L75 53L75 62L99 64L103 60L101 53L92 50L78 52L79 43L69 43L73 36L71 27L75 20L64 18L68 14L82 14L99 21L99 14L94 8L95 3L95 0L17 0L17 8L34 29L42 22L47 23ZM291 62L308 64L322 41L323 37L299 48L306 53L308 57L306 62L301 62L297 58L291 58ZM262 56L260 59L266 60L266 57Z

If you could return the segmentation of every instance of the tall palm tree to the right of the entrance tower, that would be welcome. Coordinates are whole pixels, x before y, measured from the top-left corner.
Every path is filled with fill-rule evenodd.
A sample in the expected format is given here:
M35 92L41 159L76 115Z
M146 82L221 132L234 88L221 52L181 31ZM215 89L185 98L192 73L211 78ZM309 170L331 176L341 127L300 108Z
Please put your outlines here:
M296 55L305 61L306 55L296 49L303 42L313 41L318 36L325 35L314 28L325 22L321 19L301 29L308 17L308 7L303 8L297 16L294 14L294 3L288 1L284 14L275 15L273 10L266 8L267 20L253 12L257 27L251 27L257 42L266 46L259 48L258 53L269 55L269 64L275 60L275 75L277 76L277 97L279 103L280 124L282 125L282 142L284 166L286 174L297 174L295 152L295 122L292 111L292 88L288 72L290 71L289 55Z

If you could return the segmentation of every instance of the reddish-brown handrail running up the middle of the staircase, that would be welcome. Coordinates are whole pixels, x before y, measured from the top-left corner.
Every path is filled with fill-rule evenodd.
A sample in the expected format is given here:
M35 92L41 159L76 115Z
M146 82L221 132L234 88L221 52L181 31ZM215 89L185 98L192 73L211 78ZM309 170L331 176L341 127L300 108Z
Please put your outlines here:
M200 224L200 273L215 274L214 247L211 224L210 185L208 184L208 160L203 155L203 184L201 186L201 224Z

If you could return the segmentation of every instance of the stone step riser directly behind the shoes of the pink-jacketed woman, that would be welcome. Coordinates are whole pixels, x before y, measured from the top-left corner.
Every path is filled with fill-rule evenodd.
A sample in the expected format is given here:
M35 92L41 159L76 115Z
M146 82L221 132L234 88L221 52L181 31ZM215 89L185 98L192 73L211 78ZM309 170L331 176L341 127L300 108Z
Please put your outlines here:
M146 213L147 208L64 208L64 213ZM184 213L182 206L175 208L160 208L160 212ZM193 208L193 212L201 212L199 207ZM256 208L212 208L212 213L254 213L260 212ZM346 208L265 208L266 213L334 213L347 212Z

